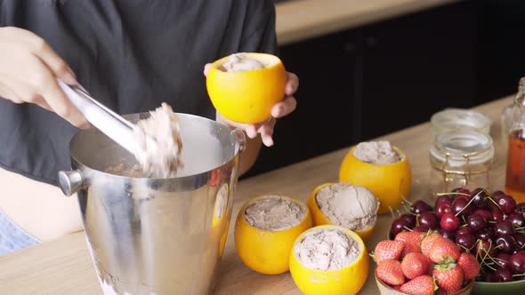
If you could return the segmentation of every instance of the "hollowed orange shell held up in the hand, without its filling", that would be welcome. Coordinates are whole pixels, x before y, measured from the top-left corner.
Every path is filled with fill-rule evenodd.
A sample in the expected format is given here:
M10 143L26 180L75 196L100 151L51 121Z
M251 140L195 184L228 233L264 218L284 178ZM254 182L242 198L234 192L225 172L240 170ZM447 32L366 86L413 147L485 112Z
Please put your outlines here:
M227 72L222 64L229 56L212 63L206 89L214 108L230 121L255 124L271 117L271 107L284 99L287 75L281 60L267 53L246 52L264 68Z

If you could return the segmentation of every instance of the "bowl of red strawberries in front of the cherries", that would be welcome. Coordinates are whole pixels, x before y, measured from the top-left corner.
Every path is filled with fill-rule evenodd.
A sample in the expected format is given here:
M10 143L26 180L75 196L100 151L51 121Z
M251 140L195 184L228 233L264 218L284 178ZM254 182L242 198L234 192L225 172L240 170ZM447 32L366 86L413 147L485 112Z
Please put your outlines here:
M377 243L376 283L386 294L470 294L478 260L438 232L400 232Z

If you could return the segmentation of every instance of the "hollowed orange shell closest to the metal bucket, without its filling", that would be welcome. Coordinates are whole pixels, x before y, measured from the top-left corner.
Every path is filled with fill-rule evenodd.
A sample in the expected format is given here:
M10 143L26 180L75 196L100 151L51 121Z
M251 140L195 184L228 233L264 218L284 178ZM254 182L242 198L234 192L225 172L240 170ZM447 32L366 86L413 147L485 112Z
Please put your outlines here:
M294 227L276 231L251 226L246 220L246 208L269 196L258 196L244 203L238 212L233 234L238 256L246 267L265 275L279 275L288 271L290 250L295 238L311 227L311 214L304 203L287 196L274 195L300 205L305 212L303 219Z

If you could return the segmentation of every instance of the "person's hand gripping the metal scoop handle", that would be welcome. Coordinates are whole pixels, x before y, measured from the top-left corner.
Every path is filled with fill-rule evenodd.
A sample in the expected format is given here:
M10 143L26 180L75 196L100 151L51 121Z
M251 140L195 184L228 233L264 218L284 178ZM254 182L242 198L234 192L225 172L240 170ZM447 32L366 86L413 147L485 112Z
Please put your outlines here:
M21 28L0 28L0 97L34 103L85 128L85 117L56 82L77 84L75 74L44 39Z

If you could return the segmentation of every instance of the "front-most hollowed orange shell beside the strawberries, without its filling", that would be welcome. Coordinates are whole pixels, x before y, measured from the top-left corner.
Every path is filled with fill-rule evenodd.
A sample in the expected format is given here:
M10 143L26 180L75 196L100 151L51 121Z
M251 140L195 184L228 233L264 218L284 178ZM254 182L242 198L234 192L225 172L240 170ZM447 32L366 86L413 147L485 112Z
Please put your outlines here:
M319 229L338 229L349 239L355 241L359 248L357 259L350 265L336 270L305 267L294 251L295 245L300 243L305 235ZM290 251L290 274L295 285L306 295L356 294L367 281L369 267L367 247L359 235L348 228L333 225L311 227L295 239L294 248Z

